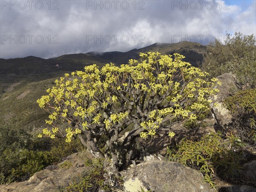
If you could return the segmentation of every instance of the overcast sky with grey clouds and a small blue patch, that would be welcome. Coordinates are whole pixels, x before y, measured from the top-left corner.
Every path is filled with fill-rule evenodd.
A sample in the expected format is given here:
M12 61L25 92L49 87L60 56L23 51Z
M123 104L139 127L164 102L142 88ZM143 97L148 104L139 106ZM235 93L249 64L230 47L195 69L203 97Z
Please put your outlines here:
M0 58L128 51L256 34L255 0L1 0Z

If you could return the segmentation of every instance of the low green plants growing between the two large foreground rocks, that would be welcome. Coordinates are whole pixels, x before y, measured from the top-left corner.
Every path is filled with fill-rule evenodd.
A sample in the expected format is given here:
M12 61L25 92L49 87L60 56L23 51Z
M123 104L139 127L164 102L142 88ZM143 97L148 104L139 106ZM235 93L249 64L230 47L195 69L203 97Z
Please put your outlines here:
M106 169L110 162L105 159L86 160L88 171L73 177L68 186L61 191L68 192L117 192L123 189L123 180L117 173L110 173Z

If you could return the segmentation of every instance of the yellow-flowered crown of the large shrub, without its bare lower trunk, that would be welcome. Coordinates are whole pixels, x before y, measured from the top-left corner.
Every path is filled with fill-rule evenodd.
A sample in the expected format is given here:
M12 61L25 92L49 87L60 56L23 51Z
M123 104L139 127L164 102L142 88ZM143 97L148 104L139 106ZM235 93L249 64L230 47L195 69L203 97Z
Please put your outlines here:
M101 69L93 64L84 67L84 71L71 73L72 78L65 73L64 77L57 79L56 86L47 90L48 95L37 100L41 108L51 112L46 122L55 125L58 120L76 119L82 130L44 129L43 135L54 138L61 131L70 142L74 134L102 123L106 130L110 130L128 117L129 113L125 111L128 111L129 102L135 103L138 95L137 101L141 103L152 97L154 102L160 101L158 105L161 106L151 108L148 114L144 114L148 120L140 121L144 128L140 135L143 138L153 137L166 117L195 121L198 111L209 108L209 96L218 91L215 89L218 79L206 81L207 73L182 61L184 56L177 53L175 58L159 52L140 53L140 56L141 62L131 59L121 67L111 63ZM120 108L124 110L119 111ZM103 116L104 111L111 111L111 114Z

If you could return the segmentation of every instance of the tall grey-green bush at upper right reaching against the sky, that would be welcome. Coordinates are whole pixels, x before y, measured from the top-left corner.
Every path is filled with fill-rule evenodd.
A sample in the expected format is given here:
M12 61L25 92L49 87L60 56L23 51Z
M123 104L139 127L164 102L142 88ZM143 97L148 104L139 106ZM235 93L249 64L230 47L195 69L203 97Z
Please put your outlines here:
M215 39L215 43L207 47L204 56L203 69L212 77L224 73L235 73L239 81L254 87L256 84L256 44L255 36L235 33L230 34L221 43Z

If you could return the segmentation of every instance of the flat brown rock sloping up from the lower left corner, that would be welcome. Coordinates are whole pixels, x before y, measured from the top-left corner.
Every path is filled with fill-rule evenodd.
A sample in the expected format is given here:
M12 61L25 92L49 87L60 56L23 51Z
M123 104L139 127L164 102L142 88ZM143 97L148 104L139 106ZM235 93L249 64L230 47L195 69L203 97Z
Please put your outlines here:
M87 151L71 154L64 158L64 162L69 161L72 164L70 169L60 169L64 162L48 166L48 169L36 172L29 180L0 185L0 192L59 192L59 188L67 185L72 177L90 169L84 167L85 158L92 156Z

